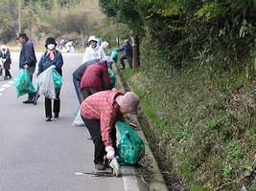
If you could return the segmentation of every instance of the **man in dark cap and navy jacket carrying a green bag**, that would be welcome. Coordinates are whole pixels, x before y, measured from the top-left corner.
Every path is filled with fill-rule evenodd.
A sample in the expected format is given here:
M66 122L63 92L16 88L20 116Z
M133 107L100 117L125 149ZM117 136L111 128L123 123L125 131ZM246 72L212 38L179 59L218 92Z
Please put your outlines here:
M33 74L35 73L35 64L36 64L36 57L35 57L35 49L34 45L26 33L19 33L16 40L22 45L22 49L19 55L19 69L27 69L31 81L33 82ZM35 93L30 93L28 95L28 99L23 101L23 103L34 103Z

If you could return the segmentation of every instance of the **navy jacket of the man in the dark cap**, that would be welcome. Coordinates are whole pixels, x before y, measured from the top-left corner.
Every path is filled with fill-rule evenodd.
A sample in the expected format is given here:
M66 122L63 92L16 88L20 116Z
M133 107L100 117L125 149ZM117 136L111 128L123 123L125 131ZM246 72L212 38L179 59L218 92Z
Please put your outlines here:
M22 45L22 50L19 55L19 68L24 69L25 65L33 67L35 66L35 63L35 49L32 42L28 40Z

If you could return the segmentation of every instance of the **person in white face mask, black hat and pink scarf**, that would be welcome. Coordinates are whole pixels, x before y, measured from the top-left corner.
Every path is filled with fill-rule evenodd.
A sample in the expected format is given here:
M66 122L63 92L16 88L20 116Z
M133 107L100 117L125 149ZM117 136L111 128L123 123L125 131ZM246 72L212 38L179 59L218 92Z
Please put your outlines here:
M55 69L58 71L58 74L62 75L62 66L63 66L63 58L62 54L56 50L56 40L53 37L48 37L45 42L46 53L43 53L41 59L38 63L38 71L37 76L41 74L43 71L48 69L51 66L55 66ZM57 93L56 99L54 99L54 117L58 118L58 114L60 111L60 98L59 98L60 90ZM46 98L44 101L45 106L45 120L52 120L52 99Z

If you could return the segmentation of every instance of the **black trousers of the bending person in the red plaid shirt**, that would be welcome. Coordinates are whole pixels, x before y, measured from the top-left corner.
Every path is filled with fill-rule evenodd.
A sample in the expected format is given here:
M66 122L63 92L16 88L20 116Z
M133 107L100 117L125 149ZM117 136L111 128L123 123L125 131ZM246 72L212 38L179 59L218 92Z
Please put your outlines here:
M94 143L94 163L100 164L104 163L105 159L105 144L101 134L101 122L98 119L87 119L82 117L82 120L89 130L90 136ZM113 147L116 152L116 128L113 125L111 129L111 139L113 143Z

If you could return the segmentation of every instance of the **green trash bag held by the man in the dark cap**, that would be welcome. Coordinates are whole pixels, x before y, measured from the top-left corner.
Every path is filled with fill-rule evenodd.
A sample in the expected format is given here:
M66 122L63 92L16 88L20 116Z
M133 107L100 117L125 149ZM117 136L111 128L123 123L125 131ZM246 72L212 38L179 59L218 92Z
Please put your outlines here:
M14 79L14 85L16 87L17 97L35 93L35 88L26 69Z

